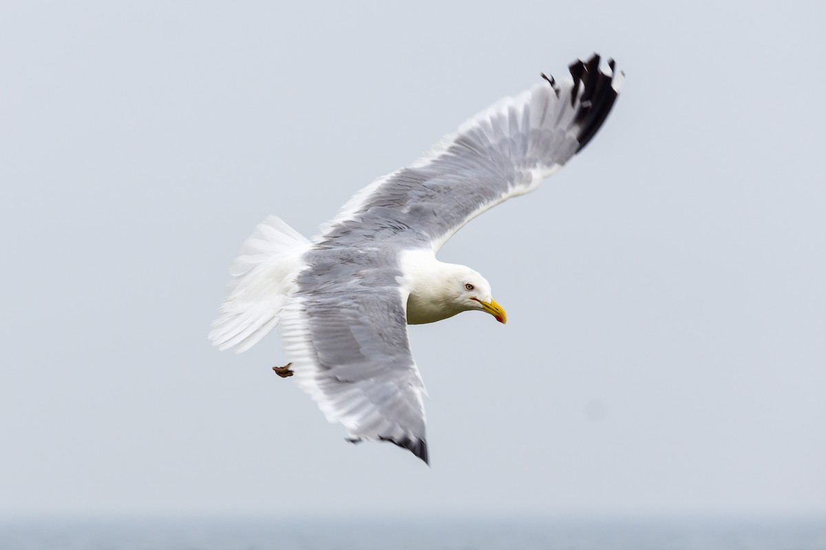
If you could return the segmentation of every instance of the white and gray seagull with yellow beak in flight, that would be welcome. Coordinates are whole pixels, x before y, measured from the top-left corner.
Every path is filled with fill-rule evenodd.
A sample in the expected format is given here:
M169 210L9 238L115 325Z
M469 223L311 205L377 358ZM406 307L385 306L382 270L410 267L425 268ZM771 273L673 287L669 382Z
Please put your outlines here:
M291 377L347 440L389 441L429 462L425 385L408 324L505 310L491 284L436 252L482 212L536 189L594 137L624 79L598 54L542 74L467 120L410 166L358 191L312 240L269 216L244 241L211 324L221 350L249 350L280 324Z

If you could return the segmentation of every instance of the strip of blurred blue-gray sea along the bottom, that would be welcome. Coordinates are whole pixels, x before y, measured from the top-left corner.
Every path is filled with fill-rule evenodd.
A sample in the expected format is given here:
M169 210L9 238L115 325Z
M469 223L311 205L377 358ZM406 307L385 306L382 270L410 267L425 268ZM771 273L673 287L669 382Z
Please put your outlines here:
M0 521L2 550L826 550L826 519Z

